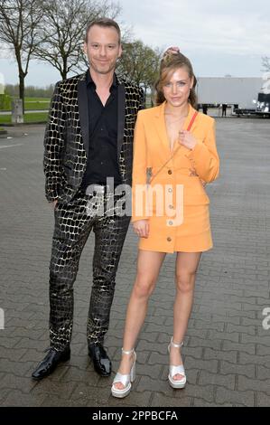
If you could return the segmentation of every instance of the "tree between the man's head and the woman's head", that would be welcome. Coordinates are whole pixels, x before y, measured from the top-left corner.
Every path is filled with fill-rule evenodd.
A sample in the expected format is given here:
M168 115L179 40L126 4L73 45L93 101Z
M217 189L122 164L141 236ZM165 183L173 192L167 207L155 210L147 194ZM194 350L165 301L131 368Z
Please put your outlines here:
M161 52L158 49L153 50L140 40L123 42L123 53L118 62L117 73L143 86L145 91L153 89L160 58Z

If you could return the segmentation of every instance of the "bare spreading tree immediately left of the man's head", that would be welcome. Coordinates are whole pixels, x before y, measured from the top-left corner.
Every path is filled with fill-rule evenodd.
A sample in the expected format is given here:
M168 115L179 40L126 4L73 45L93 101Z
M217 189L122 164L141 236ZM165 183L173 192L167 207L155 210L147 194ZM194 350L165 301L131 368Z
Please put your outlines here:
M78 71L83 61L82 45L88 23L100 16L116 18L120 6L106 0L47 0L43 5L43 27L35 57L61 73Z

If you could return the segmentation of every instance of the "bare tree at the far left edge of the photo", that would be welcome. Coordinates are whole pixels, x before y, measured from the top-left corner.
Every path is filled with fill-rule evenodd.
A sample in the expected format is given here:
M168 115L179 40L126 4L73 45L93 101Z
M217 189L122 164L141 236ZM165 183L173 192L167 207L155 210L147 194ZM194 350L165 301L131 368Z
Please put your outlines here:
M37 47L42 20L41 0L0 0L0 41L14 53L19 72L19 96L23 99L24 79Z

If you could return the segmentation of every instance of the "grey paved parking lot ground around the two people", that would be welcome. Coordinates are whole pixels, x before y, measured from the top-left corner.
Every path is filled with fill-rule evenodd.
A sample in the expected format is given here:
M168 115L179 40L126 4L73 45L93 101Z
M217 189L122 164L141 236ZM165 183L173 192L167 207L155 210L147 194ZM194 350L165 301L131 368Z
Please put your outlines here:
M88 360L86 319L93 236L75 284L71 359L42 382L33 367L48 345L52 211L44 198L42 126L8 128L0 139L0 405L270 406L270 122L217 119L220 177L209 184L214 249L202 255L183 360L188 384L167 382L174 255L168 255L136 351L137 378L124 400ZM136 237L120 261L106 346L116 372L126 303L135 277ZM269 310L267 310L267 308ZM268 311L268 313L267 313ZM0 324L1 325L1 324Z

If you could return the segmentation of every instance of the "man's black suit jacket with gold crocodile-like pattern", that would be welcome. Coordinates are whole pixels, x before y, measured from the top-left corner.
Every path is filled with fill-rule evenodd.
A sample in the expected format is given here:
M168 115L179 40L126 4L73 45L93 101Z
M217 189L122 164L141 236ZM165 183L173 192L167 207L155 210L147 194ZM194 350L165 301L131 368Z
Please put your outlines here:
M132 182L135 119L144 108L144 91L117 78L117 158L123 184ZM69 203L77 193L88 156L86 72L56 84L44 138L45 194L49 202Z

